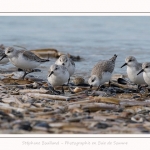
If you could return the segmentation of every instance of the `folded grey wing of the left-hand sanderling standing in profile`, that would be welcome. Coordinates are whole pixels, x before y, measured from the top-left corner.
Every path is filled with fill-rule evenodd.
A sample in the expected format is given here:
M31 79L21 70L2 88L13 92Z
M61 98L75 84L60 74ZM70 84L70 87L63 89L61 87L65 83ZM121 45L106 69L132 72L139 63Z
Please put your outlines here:
M37 55L35 55L34 53L30 52L30 51L24 51L23 52L23 56L31 61L37 61L37 62L45 62L45 61L49 61L47 59L41 59L40 57L38 57Z

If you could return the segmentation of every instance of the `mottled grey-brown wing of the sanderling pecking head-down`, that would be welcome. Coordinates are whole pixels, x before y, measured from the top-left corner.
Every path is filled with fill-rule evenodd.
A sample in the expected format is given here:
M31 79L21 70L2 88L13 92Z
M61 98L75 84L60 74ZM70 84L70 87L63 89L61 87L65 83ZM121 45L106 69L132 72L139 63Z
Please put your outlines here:
M93 67L91 75L97 75L101 78L103 72L112 73L114 70L114 66L115 64L111 61L101 61Z

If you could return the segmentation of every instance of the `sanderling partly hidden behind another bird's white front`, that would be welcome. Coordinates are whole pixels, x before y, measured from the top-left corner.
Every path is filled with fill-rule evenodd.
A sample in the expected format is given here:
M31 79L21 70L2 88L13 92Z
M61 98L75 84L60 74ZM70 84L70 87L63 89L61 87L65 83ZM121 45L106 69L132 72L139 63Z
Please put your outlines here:
M75 63L72 59L70 59L67 55L61 55L55 62L57 65L65 66L68 69L69 72L69 80L70 77L74 74L75 71ZM69 83L68 80L68 83Z

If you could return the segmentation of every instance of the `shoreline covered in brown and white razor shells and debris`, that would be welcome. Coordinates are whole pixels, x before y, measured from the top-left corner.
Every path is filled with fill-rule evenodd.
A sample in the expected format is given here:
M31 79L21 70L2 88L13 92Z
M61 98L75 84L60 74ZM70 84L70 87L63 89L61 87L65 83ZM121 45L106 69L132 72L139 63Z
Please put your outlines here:
M100 91L65 86L53 95L40 79L4 77L0 84L1 134L146 134L150 132L150 100L146 89L119 84L114 75ZM7 80L7 83L6 83ZM11 84L8 84L11 82ZM3 82L5 81L5 82ZM58 87L59 90L61 87Z

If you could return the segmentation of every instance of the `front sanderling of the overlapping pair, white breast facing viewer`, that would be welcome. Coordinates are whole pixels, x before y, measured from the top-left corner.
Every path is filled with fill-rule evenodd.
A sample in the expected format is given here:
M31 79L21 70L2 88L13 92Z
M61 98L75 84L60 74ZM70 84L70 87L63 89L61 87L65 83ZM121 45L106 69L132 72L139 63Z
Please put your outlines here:
M69 72L65 66L54 64L50 66L47 79L50 85L52 85L53 91L55 91L54 88L56 86L62 86L62 92L64 93L63 84L68 81Z

